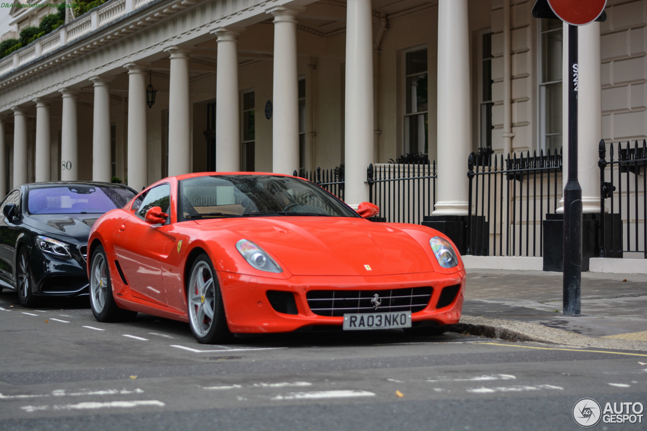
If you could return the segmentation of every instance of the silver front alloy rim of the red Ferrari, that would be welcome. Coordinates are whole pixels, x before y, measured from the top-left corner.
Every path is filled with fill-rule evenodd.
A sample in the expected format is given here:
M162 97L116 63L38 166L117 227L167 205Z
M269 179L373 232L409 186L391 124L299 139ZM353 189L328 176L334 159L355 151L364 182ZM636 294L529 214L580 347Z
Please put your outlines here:
M205 261L193 267L188 289L189 320L196 335L205 337L214 324L214 274Z

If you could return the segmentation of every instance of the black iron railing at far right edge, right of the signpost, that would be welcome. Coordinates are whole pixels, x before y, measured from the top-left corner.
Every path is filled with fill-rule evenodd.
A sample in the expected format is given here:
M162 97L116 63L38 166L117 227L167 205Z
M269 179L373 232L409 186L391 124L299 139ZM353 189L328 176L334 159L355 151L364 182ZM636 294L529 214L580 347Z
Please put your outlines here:
M647 142L643 139L639 146L636 140L633 147L627 142L624 148L618 143L615 148L617 153L613 142L609 144L607 161L606 145L600 140L600 224L607 227L600 229L600 256L633 252L647 258ZM610 167L609 182L604 181L606 166ZM606 199L609 199L610 214L605 215ZM605 241L605 236L611 238Z

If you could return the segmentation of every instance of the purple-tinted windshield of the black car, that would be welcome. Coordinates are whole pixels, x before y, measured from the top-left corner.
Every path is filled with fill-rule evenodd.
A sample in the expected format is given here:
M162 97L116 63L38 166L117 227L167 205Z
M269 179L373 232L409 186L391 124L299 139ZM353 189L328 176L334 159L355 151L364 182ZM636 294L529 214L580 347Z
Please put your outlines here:
M66 184L30 188L27 210L30 214L103 214L122 208L135 196L120 186Z

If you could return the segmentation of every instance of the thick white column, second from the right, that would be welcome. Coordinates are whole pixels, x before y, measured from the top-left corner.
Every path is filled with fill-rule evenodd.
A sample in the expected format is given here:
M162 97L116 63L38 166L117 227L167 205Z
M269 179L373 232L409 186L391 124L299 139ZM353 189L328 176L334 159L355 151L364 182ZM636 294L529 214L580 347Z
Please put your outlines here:
M433 216L466 216L470 116L467 0L438 5L438 201Z

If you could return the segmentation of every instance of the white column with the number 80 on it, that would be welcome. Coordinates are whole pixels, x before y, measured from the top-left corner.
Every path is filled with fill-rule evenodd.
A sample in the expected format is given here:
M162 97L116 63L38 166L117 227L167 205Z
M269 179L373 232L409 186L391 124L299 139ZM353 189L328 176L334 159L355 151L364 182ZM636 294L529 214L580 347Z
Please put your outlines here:
M78 127L76 120L76 91L63 89L63 119L61 124L61 181L78 179Z

